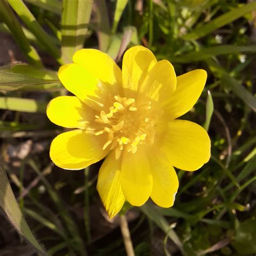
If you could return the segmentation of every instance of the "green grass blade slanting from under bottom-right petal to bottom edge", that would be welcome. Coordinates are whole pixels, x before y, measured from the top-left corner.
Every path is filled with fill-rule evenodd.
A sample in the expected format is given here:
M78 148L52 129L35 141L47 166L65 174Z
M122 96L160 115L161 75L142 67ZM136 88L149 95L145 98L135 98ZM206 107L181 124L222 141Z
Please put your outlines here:
M161 228L166 234L168 233L168 237L179 247L180 252L183 255L186 255L183 244L178 238L176 232L172 229L170 230L169 224L167 220L161 215L157 207L154 207L152 204L146 203L139 208L150 220L152 220L158 227Z

